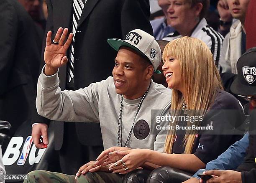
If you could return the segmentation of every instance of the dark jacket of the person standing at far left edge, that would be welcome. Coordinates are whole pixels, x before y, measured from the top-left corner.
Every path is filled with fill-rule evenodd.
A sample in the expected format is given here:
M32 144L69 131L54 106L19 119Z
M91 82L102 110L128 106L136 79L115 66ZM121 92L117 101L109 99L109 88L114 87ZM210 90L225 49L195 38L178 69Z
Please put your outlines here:
M1 0L0 12L0 120L10 122L13 135L22 122L31 120L41 40L17 0Z

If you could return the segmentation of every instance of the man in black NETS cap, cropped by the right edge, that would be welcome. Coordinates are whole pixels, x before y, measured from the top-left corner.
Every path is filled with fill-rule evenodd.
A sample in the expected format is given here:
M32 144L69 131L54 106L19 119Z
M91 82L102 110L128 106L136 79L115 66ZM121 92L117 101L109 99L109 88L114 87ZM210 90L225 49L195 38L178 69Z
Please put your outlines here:
M238 76L231 91L250 101L250 109L256 109L256 47L244 53L237 63ZM244 162L233 170L208 170L205 175L215 175L207 183L254 183L256 180L256 112L251 110L249 147ZM202 182L202 180L200 180Z

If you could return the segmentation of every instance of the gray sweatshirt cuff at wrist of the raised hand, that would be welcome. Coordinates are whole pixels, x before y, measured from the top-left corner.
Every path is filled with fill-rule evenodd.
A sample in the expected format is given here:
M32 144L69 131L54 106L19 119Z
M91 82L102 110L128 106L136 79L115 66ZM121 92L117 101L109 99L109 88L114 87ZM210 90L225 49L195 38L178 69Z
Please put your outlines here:
M45 88L51 88L51 87L56 86L57 84L59 84L59 77L58 77L59 69L54 75L46 76L44 74L44 68L45 68L45 65L44 65L44 67L42 69L42 72L39 76L39 81L42 84L42 87L44 89Z

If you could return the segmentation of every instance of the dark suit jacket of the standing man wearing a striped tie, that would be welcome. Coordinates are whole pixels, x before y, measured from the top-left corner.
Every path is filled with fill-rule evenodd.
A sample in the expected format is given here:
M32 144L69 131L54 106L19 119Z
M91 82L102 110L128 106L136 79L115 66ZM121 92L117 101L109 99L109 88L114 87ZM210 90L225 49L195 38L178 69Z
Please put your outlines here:
M46 31L55 35L59 27L72 28L72 0L48 0ZM112 75L117 54L107 38L123 38L140 28L153 35L149 23L149 0L87 0L78 23L74 45L74 88L79 89ZM61 89L65 88L66 66L59 71ZM86 112L86 109L84 109ZM33 122L49 122L34 118ZM63 123L55 123L55 149L62 146ZM100 125L77 123L77 135L84 145L102 145Z

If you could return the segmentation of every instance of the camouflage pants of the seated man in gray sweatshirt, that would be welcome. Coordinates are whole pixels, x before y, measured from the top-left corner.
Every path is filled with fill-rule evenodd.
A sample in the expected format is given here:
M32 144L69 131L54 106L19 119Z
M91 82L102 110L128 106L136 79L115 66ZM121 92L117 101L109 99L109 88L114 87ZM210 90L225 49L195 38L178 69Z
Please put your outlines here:
M121 183L123 176L118 173L98 171L80 175L75 180L75 175L34 170L28 173L28 178L24 180L24 183Z

